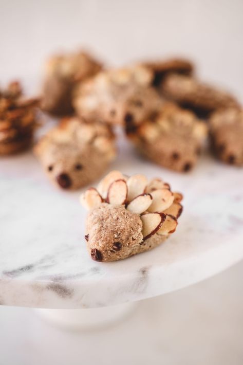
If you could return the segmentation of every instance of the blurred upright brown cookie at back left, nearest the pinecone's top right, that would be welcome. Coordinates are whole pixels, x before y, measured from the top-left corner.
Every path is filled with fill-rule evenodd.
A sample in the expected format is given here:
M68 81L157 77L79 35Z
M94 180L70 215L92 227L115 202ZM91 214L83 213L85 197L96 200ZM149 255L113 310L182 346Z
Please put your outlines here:
M42 109L57 116L73 114L74 86L101 69L101 63L84 51L51 57L45 66Z

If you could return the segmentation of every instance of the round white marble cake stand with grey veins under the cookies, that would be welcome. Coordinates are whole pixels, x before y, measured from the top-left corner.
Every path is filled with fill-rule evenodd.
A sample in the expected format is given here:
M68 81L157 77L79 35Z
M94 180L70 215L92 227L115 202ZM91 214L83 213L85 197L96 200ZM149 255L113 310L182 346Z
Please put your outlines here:
M99 318L106 321L127 312L127 303L209 278L243 257L243 170L206 155L193 172L180 175L144 162L123 138L119 150L110 170L159 176L183 192L176 233L150 252L121 262L94 262L85 248L80 192L52 187L31 152L1 158L2 305L103 307L74 312L75 323L100 323ZM118 306L107 307L111 305ZM51 317L73 320L73 311L64 312Z

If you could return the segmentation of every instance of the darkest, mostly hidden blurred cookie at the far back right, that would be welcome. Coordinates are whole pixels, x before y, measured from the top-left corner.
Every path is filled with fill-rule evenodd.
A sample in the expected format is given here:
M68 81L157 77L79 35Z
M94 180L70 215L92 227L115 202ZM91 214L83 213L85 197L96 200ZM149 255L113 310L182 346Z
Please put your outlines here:
M182 58L169 60L161 60L157 62L145 62L142 65L153 71L153 85L159 86L165 75L175 74L191 75L194 70L194 65L191 61Z

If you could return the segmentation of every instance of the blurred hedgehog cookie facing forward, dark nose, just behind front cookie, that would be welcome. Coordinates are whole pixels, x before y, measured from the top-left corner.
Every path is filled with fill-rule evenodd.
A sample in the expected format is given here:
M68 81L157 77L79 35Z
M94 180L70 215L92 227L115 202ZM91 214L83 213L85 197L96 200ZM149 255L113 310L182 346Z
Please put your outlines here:
M66 118L42 137L34 152L56 186L75 190L98 178L115 158L115 137L107 125Z

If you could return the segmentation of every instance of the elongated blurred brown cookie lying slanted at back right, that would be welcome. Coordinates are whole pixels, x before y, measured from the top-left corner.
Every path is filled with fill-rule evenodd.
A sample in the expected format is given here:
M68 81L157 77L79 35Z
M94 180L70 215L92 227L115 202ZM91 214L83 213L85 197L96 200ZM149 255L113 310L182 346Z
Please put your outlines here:
M166 98L206 117L216 109L239 107L238 101L231 94L190 76L176 74L166 76L161 91Z

